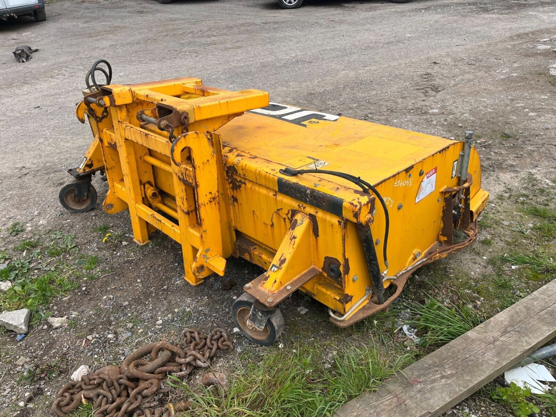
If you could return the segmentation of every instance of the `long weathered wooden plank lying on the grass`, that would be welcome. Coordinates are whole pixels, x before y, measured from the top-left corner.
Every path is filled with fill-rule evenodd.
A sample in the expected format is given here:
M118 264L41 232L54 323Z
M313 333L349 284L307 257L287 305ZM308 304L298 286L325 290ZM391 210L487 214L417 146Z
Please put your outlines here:
M436 417L556 336L556 280L408 366L336 417Z

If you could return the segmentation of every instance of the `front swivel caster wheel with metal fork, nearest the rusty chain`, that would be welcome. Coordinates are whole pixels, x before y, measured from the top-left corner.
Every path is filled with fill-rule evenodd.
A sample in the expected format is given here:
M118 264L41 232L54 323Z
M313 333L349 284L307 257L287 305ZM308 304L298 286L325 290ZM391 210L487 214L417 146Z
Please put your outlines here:
M232 317L247 339L259 345L270 346L284 330L284 317L278 308L268 310L257 307L264 306L254 296L244 293L234 301Z

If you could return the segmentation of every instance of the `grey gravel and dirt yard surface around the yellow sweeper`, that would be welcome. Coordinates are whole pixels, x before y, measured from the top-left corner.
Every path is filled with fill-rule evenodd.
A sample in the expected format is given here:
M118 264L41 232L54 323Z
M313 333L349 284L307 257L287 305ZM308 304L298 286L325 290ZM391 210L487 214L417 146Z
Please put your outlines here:
M233 329L231 303L260 274L230 260L224 279L191 287L170 239L138 248L126 213L63 211L57 195L66 170L91 142L73 109L97 58L111 62L116 83L196 76L209 86L259 88L272 101L438 136L474 130L483 187L496 202L487 212L494 214L511 204L497 201L508 190L533 194L527 178L541 185L556 178L553 0L307 0L292 11L272 0L59 0L47 4L47 16L43 23L0 21L0 247L13 251L25 238L47 242L59 231L75 235L80 253L99 261L94 279L47 307L67 315L70 327L36 322L21 342L0 334L1 415L49 415L48 403L79 365L117 363L143 342L177 337L185 325ZM17 63L11 52L18 44L40 51ZM94 184L101 196L106 183ZM17 238L7 232L15 221L26 225ZM103 242L100 226L118 239ZM467 255L477 274L488 269L479 254ZM465 265L467 255L445 267ZM300 306L309 312L301 315ZM323 306L301 295L282 312L286 338L340 333ZM233 338L239 349L222 355L222 368L233 368L238 350L260 349ZM25 378L29 366L47 369L52 361L56 376ZM20 408L32 388L39 388L36 399ZM510 415L481 401L468 400L453 415Z

